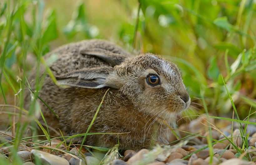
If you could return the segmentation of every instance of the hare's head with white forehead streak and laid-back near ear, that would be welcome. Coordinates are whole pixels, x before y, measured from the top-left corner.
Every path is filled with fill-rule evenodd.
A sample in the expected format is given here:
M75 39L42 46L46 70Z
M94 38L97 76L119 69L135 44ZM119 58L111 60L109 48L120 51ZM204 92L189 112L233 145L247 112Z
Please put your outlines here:
M101 58L113 66L110 59L113 56L89 55ZM84 68L56 78L63 85L113 88L136 109L162 119L174 118L188 108L190 97L174 63L151 53L119 59L122 59L119 65L114 67ZM116 63L115 60L113 63Z

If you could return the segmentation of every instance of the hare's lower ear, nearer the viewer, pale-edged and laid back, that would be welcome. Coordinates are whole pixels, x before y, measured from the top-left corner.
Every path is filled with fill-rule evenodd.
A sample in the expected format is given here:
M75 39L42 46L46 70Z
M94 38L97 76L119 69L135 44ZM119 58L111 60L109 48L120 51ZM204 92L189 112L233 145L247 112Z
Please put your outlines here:
M111 67L79 69L56 76L60 85L69 85L80 88L116 88L115 85L106 84Z

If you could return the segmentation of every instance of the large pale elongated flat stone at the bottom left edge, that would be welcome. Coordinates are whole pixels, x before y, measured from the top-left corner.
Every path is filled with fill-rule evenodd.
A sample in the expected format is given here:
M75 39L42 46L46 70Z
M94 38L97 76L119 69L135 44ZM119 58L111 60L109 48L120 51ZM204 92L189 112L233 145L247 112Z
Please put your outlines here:
M69 162L64 159L60 158L56 155L50 154L50 153L45 153L43 151L35 150L33 149L31 151L33 156L37 157L41 163L43 164L48 164L48 165L56 165L56 164L62 164L62 165L69 165Z

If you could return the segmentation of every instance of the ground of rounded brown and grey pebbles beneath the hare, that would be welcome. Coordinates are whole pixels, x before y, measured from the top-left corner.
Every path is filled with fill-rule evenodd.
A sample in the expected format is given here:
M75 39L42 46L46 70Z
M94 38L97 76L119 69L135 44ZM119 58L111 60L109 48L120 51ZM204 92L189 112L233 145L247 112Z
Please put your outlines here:
M213 127L219 128L219 130L212 128L212 139L217 141L223 139L223 143L214 144L212 150L206 148L208 142L207 138L204 138L209 137L209 124L207 121L212 123ZM252 120L252 122L254 121ZM192 120L189 124L186 123L179 126L179 130L199 136L185 138L171 146L158 146L153 150L142 149L138 152L126 150L122 152L122 157L118 154L117 149L112 149L102 161L101 159L105 156L105 153L92 153L83 148L78 156L79 147L68 148L64 143L56 148L61 143L61 140L58 139L52 140L51 145L50 143L44 144L44 147L55 148L54 151L47 148L30 148L27 144L21 144L17 155L22 159L23 165L34 165L35 159L39 159L43 164L49 165L98 165L100 163L110 165L254 165L256 162L256 126L247 126L249 148L246 153L243 151L243 155L236 150L236 148L241 148L242 143L239 126L237 123L233 123L232 129L230 122L221 120L215 123L214 119L207 119L201 116ZM244 128L245 125L242 124L242 127ZM181 138L189 135L182 131L180 131ZM230 142L224 137L225 135L230 138L231 133L235 146L230 145ZM0 133L0 139L1 136L4 137ZM175 136L171 137L171 139L173 141L177 140ZM0 144L3 142L5 141L0 141ZM211 143L213 142L214 140L211 141ZM203 147L205 149L202 149ZM8 162L12 163L12 148L13 146L10 144L9 146L6 144L0 147L0 160L7 159ZM213 157L210 157L211 154Z

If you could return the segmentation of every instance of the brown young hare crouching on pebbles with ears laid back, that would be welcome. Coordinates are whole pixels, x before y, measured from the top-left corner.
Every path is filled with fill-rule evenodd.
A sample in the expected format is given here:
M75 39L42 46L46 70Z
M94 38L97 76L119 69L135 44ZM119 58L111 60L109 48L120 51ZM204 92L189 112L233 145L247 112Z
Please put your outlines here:
M58 59L49 68L58 83L69 88L55 85L46 75L39 96L59 116L57 119L38 101L48 126L70 136L86 133L109 89L90 133L110 134L88 135L85 145L112 148L120 143L122 149L137 151L154 143L167 144L171 131L166 123L174 123L190 105L180 70L157 55L132 56L111 42L97 39L59 47L45 58L52 55ZM40 75L45 69L41 70ZM35 73L32 90L34 77ZM42 117L39 121L44 123ZM81 143L82 139L72 142Z

